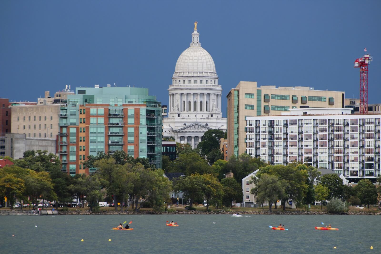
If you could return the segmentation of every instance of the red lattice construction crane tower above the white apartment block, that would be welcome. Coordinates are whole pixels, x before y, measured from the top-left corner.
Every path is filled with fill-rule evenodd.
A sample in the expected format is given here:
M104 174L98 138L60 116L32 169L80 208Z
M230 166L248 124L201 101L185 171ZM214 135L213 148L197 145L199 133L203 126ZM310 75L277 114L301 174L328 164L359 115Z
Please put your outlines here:
M367 51L364 48L364 51ZM368 53L355 61L355 68L360 68L360 114L368 114L368 64L372 56Z

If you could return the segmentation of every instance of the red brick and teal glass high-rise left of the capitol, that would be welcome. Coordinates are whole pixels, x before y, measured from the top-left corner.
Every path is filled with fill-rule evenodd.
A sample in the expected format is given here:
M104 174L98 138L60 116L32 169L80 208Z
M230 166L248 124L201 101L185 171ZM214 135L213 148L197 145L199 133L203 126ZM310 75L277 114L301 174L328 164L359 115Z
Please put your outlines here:
M162 105L147 88L79 87L59 114L62 171L91 174L82 162L98 152L124 150L162 164Z

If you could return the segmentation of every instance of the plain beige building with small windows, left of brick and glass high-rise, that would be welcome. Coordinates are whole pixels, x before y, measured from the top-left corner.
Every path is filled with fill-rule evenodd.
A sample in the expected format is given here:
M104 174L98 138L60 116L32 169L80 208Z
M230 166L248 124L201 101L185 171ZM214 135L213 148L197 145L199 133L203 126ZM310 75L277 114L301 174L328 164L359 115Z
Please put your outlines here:
M56 139L60 106L12 106L12 133L25 133L27 138Z

